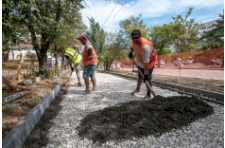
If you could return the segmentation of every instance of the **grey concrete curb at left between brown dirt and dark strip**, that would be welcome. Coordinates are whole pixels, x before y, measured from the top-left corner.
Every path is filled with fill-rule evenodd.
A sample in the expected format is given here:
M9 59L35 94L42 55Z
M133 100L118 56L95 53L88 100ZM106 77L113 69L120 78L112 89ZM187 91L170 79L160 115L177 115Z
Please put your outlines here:
M16 127L14 127L2 141L3 148L20 148L23 146L27 136L34 129L46 108L55 99L58 92L61 90L61 85L58 84L55 88L37 104Z

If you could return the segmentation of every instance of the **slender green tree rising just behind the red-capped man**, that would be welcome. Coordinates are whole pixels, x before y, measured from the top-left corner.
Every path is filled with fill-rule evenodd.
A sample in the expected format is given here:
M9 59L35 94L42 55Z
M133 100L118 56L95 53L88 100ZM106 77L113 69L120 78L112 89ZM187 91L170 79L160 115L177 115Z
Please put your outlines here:
M99 23L96 23L94 18L89 18L90 29L87 31L87 38L95 47L97 54L102 52L105 44L105 32L100 27Z

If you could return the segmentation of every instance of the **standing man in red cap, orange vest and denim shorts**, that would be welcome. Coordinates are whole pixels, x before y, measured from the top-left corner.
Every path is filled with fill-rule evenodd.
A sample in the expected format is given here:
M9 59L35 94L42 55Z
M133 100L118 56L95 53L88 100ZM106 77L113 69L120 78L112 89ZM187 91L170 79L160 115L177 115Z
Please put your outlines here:
M98 58L95 52L93 45L88 42L87 37L84 35L80 35L78 38L80 42L84 45L83 48L83 78L85 82L85 90L84 93L90 93L89 89L89 77L91 78L93 88L92 91L96 91L96 78L95 78L95 69L98 66Z

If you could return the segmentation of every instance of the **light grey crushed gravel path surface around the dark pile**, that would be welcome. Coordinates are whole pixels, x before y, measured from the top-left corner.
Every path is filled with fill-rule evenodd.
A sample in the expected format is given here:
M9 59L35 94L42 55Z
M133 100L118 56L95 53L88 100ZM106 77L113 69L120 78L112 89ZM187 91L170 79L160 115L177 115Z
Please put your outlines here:
M48 118L48 120L45 119L45 121L41 121L41 125L36 126L25 142L24 148L219 148L224 146L224 107L214 103L208 103L214 108L213 114L198 119L188 126L173 129L161 136L149 135L131 140L107 141L105 143L93 143L89 139L82 139L78 135L77 127L88 114L118 103L141 100L146 92L143 85L138 95L130 95L131 91L136 88L135 80L103 73L96 73L96 78L98 91L92 91L90 94L83 94L84 86L70 86L67 93L60 96L58 104L56 101L50 106L50 114L54 114L54 117ZM76 79L75 75L73 75L73 79ZM155 91L156 95L163 97L180 96L176 92L158 87L153 87L153 91Z

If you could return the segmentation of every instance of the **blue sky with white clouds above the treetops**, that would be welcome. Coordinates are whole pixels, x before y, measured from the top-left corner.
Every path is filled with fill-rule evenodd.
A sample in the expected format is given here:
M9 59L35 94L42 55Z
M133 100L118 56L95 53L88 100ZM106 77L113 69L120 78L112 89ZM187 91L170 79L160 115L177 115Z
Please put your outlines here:
M204 23L219 18L223 13L223 0L85 0L81 11L84 23L89 26L88 17L93 17L100 26L108 31L118 31L119 22L130 16L142 14L142 20L151 27L172 22L172 17L186 15L193 7L190 18L196 23Z

